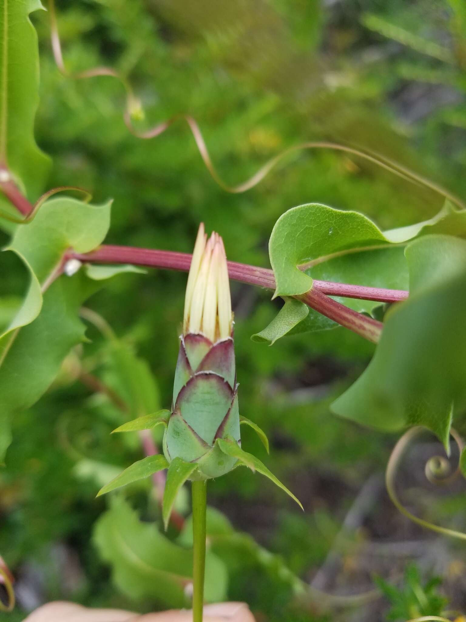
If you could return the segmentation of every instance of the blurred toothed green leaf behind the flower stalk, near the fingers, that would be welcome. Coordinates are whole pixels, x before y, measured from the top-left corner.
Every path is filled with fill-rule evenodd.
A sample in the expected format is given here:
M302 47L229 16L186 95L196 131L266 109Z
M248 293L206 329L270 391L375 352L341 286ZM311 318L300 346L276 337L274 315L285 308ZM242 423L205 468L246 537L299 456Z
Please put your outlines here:
M110 509L96 522L93 540L126 596L155 600L163 608L186 605L185 589L193 581L192 550L168 540L152 522L141 522L120 496L112 496ZM225 600L227 582L224 563L208 550L205 600Z

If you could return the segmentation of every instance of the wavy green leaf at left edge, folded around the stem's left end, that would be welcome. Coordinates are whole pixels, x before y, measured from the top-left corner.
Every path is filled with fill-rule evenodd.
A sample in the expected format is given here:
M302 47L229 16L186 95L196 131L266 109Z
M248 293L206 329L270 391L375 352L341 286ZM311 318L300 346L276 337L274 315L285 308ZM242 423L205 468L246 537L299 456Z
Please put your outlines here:
M23 304L0 335L0 460L11 442L9 417L39 399L63 358L84 340L85 325L78 310L100 287L82 273L62 276L49 286L50 277L66 249L85 253L101 244L109 218L110 203L97 207L55 198L14 234L9 250L24 262L30 285Z

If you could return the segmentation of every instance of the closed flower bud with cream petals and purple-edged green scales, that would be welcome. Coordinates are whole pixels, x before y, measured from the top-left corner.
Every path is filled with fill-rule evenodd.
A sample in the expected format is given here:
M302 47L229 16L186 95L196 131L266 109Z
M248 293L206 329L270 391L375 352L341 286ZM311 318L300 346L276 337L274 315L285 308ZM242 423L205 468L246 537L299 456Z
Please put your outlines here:
M222 238L199 226L186 285L185 315L163 452L197 465L191 479L230 471L237 459L217 439L240 442L233 316Z

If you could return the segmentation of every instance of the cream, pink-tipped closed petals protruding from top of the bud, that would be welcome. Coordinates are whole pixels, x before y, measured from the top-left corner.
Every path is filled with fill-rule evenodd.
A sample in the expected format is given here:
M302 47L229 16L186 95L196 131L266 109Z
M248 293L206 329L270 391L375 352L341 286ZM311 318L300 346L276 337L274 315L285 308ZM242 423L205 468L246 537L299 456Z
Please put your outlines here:
M183 334L201 334L212 343L231 337L233 317L227 258L222 238L208 239L199 226L186 285Z

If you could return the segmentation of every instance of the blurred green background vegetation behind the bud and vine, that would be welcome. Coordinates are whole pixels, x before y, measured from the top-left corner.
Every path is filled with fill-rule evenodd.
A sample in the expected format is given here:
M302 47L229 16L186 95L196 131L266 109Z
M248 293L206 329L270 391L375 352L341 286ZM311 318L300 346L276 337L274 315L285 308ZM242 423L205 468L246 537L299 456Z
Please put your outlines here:
M192 114L226 183L242 182L288 146L327 140L381 152L465 195L461 0L83 0L57 2L57 17L70 73L117 68L142 101L141 129ZM190 252L202 220L222 234L229 259L268 267L273 224L295 205L362 211L381 228L425 220L441 208L426 188L323 149L288 157L249 192L226 193L183 121L157 139L135 138L122 120L121 84L63 77L50 51L47 14L36 12L32 21L40 43L36 137L53 163L47 187L83 187L95 202L113 197L107 243ZM7 239L2 233L1 242ZM25 286L19 261L8 261L0 281L2 325ZM19 600L5 615L9 621L55 598L139 611L173 604L163 589L150 587L152 577L134 578L108 537L139 521L130 507L158 520L151 484L130 488L129 505L114 506L114 514L106 513L109 499L94 499L112 474L142 457L137 439L109 435L127 415L96 391L94 380L135 408L126 364L138 356L134 374L146 404L170 404L185 282L185 274L163 271L109 282L89 306L118 341L89 323L89 343L68 356L47 395L15 418L0 473L0 554L17 577ZM439 593L451 610L465 610L464 545L414 526L386 496L383 471L395 435L329 414L329 402L362 371L373 346L343 328L270 348L253 343L250 336L279 303L235 283L232 298L242 414L269 435L275 471L306 513L242 470L211 483L211 506L254 539L212 539L227 569L228 598L247 601L259 622L407 620L436 607L439 613ZM254 434L243 436L244 447L267 463ZM424 463L439 443L428 435L425 441L401 470L403 499L414 513L461 528L464 482L445 490L426 483ZM188 513L187 499L178 500L178 510ZM124 524L115 526L112 517ZM228 531L219 515L212 521ZM144 526L134 529L142 541ZM179 537L176 529L169 537ZM375 575L383 578L375 583ZM442 587L424 590L434 575ZM303 592L303 582L314 591ZM377 585L385 597L373 598Z

